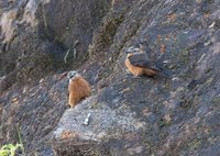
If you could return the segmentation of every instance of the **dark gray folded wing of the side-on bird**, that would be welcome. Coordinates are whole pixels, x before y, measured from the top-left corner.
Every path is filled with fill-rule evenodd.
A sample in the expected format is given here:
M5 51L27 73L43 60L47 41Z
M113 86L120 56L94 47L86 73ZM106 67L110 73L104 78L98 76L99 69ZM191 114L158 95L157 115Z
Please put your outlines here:
M128 57L128 59L133 66L161 70L152 60L146 58L144 53L131 55Z

